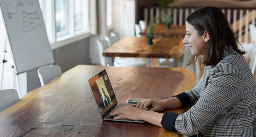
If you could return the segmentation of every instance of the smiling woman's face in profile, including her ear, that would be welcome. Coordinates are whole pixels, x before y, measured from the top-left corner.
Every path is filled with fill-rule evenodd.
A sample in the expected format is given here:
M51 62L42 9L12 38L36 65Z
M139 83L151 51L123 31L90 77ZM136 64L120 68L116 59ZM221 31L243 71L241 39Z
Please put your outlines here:
M209 41L208 33L205 31L202 36L199 36L197 34L197 30L194 29L194 27L188 22L186 22L186 32L187 34L183 40L183 43L188 44L193 56L203 55L204 47Z

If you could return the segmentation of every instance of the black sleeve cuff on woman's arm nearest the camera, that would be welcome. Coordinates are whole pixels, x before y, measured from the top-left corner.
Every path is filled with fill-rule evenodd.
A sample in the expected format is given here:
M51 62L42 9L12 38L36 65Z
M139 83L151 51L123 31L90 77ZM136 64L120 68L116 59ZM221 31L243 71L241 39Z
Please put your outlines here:
M176 118L179 114L176 113L165 113L162 117L161 125L164 127L165 130L171 132L177 132L174 128Z

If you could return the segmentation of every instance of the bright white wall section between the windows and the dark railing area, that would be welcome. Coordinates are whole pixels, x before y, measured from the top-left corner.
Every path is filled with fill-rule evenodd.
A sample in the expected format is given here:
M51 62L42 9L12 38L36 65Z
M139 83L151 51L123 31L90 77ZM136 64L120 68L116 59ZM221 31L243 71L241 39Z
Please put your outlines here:
M112 17L113 32L118 33L121 38L134 36L135 0L113 0Z

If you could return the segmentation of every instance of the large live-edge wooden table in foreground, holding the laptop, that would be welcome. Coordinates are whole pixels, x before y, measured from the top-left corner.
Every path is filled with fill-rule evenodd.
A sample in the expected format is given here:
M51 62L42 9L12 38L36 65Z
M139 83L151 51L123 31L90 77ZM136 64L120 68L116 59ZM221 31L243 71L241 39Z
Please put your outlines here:
M195 82L187 68L78 65L0 112L0 137L179 136L149 123L102 120L88 80L103 69L119 103L129 97L164 100L191 89Z

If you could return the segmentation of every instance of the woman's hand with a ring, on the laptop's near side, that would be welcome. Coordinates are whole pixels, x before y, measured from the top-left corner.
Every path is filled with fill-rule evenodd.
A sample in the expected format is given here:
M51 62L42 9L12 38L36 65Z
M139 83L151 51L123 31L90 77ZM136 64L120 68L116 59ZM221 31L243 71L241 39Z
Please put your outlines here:
M143 116L145 112L146 111L142 109L134 108L132 106L126 106L126 107L115 109L110 113L110 115L123 114L123 115L119 115L118 117L115 117L114 119L127 118L132 120L143 120Z

